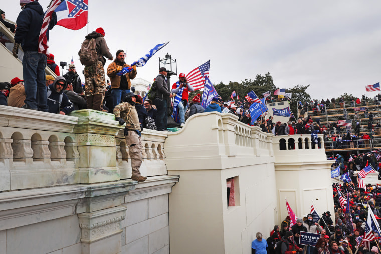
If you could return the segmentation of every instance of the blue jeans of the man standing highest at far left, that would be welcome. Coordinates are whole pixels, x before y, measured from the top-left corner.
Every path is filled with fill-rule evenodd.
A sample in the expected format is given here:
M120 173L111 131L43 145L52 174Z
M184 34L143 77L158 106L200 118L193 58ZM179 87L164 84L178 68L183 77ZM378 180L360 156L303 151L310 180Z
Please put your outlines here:
M25 103L30 109L48 112L45 67L47 57L37 51L26 51L23 57Z

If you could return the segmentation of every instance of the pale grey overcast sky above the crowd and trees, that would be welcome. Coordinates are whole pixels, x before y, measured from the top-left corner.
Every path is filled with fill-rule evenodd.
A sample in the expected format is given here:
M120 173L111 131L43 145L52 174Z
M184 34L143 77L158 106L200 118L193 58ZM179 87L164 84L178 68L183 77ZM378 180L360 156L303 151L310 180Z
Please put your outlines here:
M377 94L365 92L365 85L380 81L379 0L89 1L89 28L56 26L49 41L56 63L73 56L81 78L78 50L88 30L102 27L111 53L125 50L129 64L170 41L137 69L137 77L148 81L158 73L158 57L168 52L177 59L178 74L210 59L213 83L269 72L279 88L309 84L312 98ZM46 10L50 1L39 2ZM0 3L6 18L16 21L19 1Z

